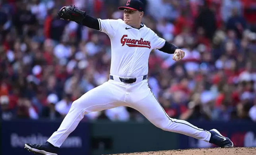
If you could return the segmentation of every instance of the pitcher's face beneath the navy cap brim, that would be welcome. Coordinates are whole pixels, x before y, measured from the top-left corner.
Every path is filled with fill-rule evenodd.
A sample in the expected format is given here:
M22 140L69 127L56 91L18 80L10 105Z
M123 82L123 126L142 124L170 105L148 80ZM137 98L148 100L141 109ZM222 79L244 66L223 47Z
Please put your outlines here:
M132 9L124 9L124 23L127 25L133 26L138 23L140 19L142 19L143 12L132 10Z

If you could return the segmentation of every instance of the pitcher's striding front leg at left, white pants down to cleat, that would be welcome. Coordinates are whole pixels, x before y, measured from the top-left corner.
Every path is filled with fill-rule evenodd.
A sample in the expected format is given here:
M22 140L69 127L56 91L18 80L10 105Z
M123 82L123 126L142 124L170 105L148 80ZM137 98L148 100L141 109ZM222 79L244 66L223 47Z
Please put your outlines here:
M74 101L59 129L47 140L47 145L53 146L53 148L60 147L68 135L76 129L85 114L115 108L117 106L124 106L125 103L122 102L122 100L124 100L125 97L125 87L122 86L123 85L117 85L116 81L111 80L88 91L78 100ZM33 147L29 146L29 144L25 147L33 151ZM41 150L41 147L34 149ZM56 154L57 153L53 153L52 155Z

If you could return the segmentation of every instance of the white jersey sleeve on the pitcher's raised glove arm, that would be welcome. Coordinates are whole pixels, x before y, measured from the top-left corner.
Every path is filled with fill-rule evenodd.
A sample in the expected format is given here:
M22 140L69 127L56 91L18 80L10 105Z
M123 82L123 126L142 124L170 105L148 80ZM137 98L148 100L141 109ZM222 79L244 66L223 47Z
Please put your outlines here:
M99 31L106 33L109 37L114 37L119 26L119 19L98 19Z

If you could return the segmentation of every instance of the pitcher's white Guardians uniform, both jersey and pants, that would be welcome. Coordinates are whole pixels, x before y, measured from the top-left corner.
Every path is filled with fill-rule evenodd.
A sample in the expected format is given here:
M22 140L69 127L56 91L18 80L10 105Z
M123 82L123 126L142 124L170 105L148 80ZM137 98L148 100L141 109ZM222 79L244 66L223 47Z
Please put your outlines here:
M152 49L163 47L165 40L145 25L136 29L126 25L122 19L98 20L100 31L111 40L110 74L113 79L74 101L59 129L47 141L60 147L85 114L127 106L138 110L156 127L209 142L210 132L187 121L170 118L148 87L147 79L143 80L148 72L149 53ZM137 79L128 84L121 82L119 77Z

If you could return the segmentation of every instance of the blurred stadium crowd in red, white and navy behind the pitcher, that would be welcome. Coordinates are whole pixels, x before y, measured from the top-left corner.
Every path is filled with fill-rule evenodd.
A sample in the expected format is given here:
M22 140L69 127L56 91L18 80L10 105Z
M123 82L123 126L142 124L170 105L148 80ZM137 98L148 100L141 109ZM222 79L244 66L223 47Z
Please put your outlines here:
M143 23L186 52L153 50L149 86L176 119L256 122L256 1L141 0ZM109 79L111 44L102 32L60 20L62 6L122 19L126 0L0 1L0 106L4 120L63 119L72 102ZM143 121L118 107L86 119Z

